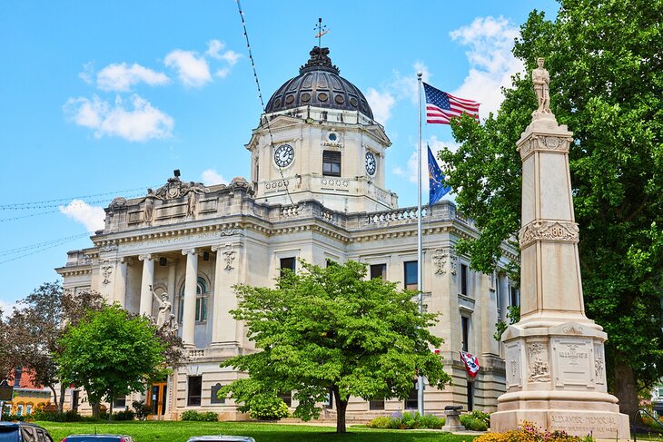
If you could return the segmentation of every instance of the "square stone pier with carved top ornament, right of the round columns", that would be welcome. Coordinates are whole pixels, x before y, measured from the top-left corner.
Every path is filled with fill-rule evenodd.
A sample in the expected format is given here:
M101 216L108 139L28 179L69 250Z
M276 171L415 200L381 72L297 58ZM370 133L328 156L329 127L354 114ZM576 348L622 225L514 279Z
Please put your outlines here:
M214 274L214 300L212 346L236 349L239 347L237 321L230 310L237 308L237 295L233 285L240 282L238 275L240 264L237 262L239 243L227 243L212 246L216 252L216 269Z

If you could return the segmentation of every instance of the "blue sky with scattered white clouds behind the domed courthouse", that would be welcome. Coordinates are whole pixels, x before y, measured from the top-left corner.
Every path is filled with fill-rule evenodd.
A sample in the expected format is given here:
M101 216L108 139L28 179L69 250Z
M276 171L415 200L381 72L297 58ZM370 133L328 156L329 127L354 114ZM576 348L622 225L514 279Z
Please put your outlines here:
M551 0L243 0L265 102L298 74L322 17L341 75L367 96L393 142L387 187L416 205L416 75L498 108L529 11ZM88 247L114 196L249 175L243 145L261 105L233 0L0 3L0 308L57 279ZM448 126L424 126L434 148Z

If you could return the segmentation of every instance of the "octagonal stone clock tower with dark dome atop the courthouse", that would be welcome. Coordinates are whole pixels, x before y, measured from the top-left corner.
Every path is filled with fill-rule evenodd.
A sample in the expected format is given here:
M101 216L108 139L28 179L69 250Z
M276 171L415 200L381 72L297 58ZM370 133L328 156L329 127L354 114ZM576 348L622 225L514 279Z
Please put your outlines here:
M391 141L363 93L313 47L300 74L265 106L246 148L255 199L291 205L317 200L334 211L383 211L398 205L385 189Z

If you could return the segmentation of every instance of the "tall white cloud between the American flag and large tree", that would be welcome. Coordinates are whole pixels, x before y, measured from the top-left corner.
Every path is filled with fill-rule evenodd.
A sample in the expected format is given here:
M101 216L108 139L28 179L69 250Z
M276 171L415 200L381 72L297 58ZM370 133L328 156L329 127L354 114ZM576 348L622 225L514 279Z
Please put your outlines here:
M510 86L510 77L523 72L524 66L513 54L513 41L519 29L504 17L477 17L467 26L451 31L450 37L470 47L466 53L470 73L453 92L481 103L480 116L496 112L504 99L500 87Z

